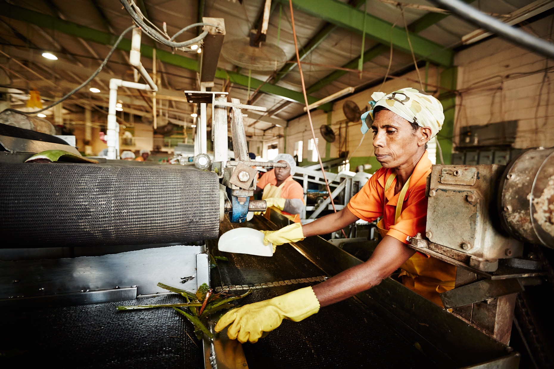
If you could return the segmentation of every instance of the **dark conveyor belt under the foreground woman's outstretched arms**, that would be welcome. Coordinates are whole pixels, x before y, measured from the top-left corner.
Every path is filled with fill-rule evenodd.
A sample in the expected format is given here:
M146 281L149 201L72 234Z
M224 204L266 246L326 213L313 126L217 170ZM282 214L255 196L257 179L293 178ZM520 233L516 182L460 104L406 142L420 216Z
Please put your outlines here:
M255 217L245 224L224 222L220 232L247 226L272 229L273 224ZM274 228L273 228L274 229ZM278 246L273 257L219 252L217 241L207 241L214 256L225 256L212 269L212 287L253 285L290 279L313 278L325 272L291 245ZM263 289L240 300L258 302L316 284L297 283ZM244 293L244 290L237 290ZM386 321L354 298L321 308L319 313L281 326L256 344L243 344L250 369L273 368L435 368L422 352L394 331Z

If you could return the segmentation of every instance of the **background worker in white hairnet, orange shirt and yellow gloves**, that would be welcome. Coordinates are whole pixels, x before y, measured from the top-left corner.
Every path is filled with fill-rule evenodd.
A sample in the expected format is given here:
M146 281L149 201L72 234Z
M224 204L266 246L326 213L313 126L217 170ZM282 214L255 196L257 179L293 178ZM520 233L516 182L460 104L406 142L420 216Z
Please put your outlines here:
M271 209L295 223L300 223L300 212L304 209L304 189L293 179L296 162L290 154L279 154L275 161L286 163L286 168L275 168L262 175L254 193L264 191L261 199L268 204L268 211L264 212L268 219ZM262 212L254 213L259 214Z

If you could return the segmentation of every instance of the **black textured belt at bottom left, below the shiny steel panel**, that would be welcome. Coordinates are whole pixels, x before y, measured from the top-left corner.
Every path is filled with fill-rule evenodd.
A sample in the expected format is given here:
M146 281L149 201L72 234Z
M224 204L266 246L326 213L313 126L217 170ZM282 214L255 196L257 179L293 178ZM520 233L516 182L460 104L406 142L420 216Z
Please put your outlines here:
M203 368L202 342L171 308L118 311L119 305L171 304L176 295L10 312L2 323L4 368ZM194 342L188 335L194 337ZM38 366L38 365L39 366Z

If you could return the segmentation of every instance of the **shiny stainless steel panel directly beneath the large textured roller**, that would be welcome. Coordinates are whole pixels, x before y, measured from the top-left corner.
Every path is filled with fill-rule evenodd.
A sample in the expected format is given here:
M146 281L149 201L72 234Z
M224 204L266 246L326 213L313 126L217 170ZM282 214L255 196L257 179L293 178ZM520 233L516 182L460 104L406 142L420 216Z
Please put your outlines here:
M0 298L132 285L138 294L167 292L157 287L158 282L196 292L196 255L204 251L204 246L170 246L93 257L0 261ZM204 274L209 271L206 266ZM181 283L190 276L194 279Z

